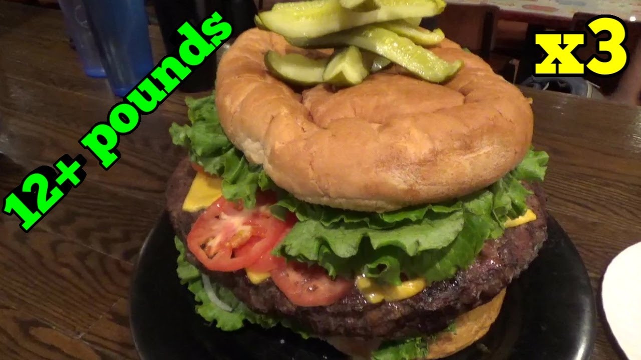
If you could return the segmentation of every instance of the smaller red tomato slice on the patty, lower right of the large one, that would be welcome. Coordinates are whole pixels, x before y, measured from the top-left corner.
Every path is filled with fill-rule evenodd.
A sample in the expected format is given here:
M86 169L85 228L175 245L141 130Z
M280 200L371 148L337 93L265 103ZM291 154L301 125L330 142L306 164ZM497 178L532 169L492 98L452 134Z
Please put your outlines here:
M290 262L283 270L272 272L272 281L297 306L329 306L342 299L354 284L332 280L324 268Z

